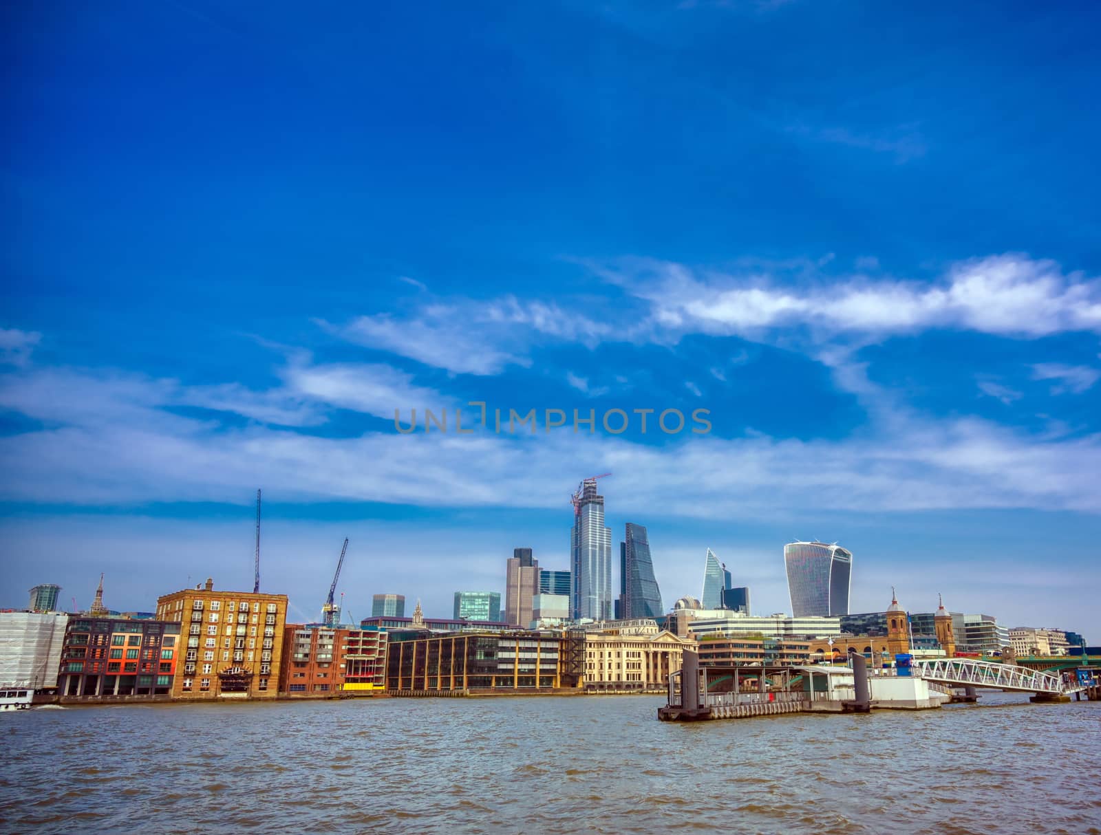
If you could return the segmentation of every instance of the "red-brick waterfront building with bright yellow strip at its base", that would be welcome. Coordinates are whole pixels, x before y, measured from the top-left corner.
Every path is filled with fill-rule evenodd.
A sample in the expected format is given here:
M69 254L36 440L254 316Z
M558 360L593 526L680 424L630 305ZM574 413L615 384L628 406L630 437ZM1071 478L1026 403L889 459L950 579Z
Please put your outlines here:
M280 694L325 697L385 689L386 633L287 624Z

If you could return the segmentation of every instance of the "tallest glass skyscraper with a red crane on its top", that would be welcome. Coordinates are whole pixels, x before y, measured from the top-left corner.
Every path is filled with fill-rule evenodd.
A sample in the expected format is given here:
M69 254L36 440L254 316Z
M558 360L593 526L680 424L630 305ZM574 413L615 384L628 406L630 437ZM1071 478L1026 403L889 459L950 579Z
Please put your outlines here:
M586 479L574 494L569 550L574 618L611 619L612 531L604 527L604 497L597 494L596 479Z

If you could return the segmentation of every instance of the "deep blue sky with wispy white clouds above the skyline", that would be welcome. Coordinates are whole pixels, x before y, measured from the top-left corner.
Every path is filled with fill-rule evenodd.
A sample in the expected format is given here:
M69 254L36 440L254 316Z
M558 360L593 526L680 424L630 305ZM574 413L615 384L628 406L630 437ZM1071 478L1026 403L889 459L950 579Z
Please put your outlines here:
M1091 4L3 12L0 605L208 574L303 616L450 609L568 494L1010 625L1101 618ZM393 411L696 408L708 435L394 430Z

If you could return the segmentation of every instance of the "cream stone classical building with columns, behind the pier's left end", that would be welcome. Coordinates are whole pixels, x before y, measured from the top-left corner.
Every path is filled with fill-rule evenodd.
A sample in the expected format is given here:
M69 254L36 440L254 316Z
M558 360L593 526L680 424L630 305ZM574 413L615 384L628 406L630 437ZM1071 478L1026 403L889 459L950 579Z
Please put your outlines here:
M696 641L658 630L653 620L586 629L582 684L590 691L664 690L685 649L696 649Z

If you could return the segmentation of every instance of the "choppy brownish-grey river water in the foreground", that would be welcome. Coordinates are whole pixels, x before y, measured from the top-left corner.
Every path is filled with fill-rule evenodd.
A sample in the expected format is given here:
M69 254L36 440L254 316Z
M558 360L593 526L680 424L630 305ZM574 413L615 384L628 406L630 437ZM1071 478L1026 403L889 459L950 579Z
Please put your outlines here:
M1101 833L1101 702L664 723L653 696L0 716L2 832Z

